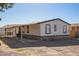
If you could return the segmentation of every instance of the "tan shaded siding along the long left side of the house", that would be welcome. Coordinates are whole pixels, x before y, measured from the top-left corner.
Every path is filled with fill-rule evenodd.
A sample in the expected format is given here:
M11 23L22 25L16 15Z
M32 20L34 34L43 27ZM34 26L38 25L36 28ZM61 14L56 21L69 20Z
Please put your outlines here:
M27 33L27 25L24 26L20 26L21 30L24 32L22 32L22 34L26 34L26 35L36 35L36 36L40 36L41 32L40 32L40 24L35 24L35 25L29 25L29 33ZM15 37L16 34L18 34L19 32L19 27L9 27L6 28L6 37ZM8 35L7 33L12 33L11 35Z

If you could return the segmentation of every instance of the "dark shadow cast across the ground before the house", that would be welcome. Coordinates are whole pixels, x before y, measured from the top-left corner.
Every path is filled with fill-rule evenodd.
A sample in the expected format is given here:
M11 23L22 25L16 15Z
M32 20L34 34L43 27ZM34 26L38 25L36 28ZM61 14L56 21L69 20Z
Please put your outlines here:
M79 40L77 39L70 39L70 40L54 40L54 41L33 41L28 42L26 39L26 42L21 42L19 40L7 38L7 39L1 39L6 45L8 45L10 48L24 48L24 47L58 47L58 46L71 46L71 45L79 45Z

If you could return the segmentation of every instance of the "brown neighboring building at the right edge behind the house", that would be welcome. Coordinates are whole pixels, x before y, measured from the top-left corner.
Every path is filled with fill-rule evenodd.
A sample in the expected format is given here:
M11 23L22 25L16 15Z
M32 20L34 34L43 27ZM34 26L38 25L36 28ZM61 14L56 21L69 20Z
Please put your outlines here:
M71 24L71 26L70 26L70 37L71 38L79 37L79 23Z

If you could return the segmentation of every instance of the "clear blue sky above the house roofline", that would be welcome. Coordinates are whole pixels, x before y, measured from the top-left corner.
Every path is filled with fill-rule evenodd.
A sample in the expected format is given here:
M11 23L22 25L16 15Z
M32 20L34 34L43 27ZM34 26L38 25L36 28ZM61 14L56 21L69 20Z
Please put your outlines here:
M0 12L0 26L6 24L27 24L61 18L68 23L79 23L79 4L17 3L6 12Z

